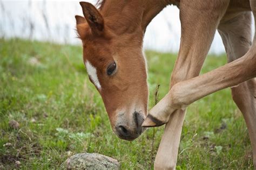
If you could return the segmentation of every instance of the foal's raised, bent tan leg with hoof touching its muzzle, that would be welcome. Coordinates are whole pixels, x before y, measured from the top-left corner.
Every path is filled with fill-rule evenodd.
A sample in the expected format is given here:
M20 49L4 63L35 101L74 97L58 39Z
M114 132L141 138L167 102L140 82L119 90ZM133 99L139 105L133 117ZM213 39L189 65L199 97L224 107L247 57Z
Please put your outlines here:
M256 42L241 58L212 70L206 74L174 84L169 93L153 108L144 121L144 126L156 126L167 122L177 108L193 103L215 91L237 86L256 76ZM153 111L152 111L153 110ZM157 119L154 122L154 119ZM157 118L156 118L157 117Z

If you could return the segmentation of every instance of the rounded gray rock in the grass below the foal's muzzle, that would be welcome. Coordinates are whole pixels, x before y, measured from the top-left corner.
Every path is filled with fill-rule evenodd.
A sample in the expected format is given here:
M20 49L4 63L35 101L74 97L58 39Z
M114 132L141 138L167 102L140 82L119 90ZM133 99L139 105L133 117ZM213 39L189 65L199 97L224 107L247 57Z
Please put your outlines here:
M78 153L68 158L63 169L119 169L116 159L98 153Z

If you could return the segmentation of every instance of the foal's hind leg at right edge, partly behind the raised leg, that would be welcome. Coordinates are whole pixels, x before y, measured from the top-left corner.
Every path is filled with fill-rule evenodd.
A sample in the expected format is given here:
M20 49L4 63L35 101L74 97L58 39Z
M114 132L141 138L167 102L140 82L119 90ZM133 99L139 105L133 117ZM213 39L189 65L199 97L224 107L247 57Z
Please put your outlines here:
M228 62L240 58L252 44L251 12L243 12L231 20L224 20L218 30L226 48ZM233 100L245 118L253 148L254 168L256 168L256 80L248 80L231 90Z

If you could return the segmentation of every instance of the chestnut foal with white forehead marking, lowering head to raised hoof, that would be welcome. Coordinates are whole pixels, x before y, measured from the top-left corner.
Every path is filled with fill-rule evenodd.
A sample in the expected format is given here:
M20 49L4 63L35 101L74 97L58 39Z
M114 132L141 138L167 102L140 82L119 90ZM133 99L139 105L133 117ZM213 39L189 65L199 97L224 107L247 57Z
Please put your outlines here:
M166 5L180 9L181 42L169 93L147 115L144 32ZM113 131L133 140L143 126L166 124L154 168L174 169L187 105L232 87L235 103L244 115L256 167L256 42L251 41L254 0L105 0L99 10L81 2L84 17L76 16L83 42L83 59L90 81L103 98ZM227 52L225 66L199 75L215 31ZM255 37L254 37L255 39Z

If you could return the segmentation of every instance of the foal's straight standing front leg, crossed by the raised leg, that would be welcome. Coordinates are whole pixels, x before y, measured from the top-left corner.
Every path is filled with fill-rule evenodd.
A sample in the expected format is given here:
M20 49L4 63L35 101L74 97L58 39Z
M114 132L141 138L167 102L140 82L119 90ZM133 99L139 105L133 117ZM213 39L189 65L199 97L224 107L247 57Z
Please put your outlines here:
M227 4L223 3L223 1L219 1L219 4L214 4L219 5L218 7L220 8L209 6L208 1L211 0L202 1L200 5L193 1L180 3L181 44L178 59L172 73L170 88L177 82L199 75L219 19L224 15L227 7ZM211 22L205 23L206 18ZM198 41L199 37L200 40ZM181 109L171 115L158 148L154 162L155 169L174 169L176 167L184 117L185 110Z

